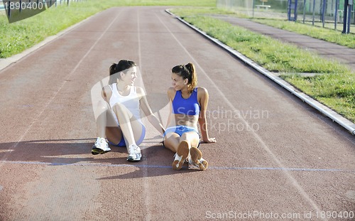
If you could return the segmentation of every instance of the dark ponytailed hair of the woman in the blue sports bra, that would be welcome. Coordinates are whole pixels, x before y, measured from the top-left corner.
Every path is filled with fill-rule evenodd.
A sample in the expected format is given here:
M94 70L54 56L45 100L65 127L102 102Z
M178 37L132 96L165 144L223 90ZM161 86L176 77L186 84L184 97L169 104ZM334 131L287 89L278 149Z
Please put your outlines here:
M176 65L171 72L180 75L184 80L188 80L187 87L190 93L197 86L197 75L194 64L187 63L186 65Z

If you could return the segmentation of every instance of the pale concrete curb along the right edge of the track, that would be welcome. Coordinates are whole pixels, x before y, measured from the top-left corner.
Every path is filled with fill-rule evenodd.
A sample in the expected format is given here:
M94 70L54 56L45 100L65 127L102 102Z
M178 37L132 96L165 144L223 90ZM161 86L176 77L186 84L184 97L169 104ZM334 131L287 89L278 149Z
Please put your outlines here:
M175 14L171 13L169 11L169 9L166 9L165 11L168 14L170 14L172 16L175 16ZM250 60L249 58L246 58L246 56L242 55L241 53L239 53L238 51L234 50L233 48L230 48L229 46L224 45L224 43L219 41L217 38L212 38L211 36L208 36L207 33L205 33L204 31L201 31L199 28L196 28L195 26L192 26L190 23L187 23L187 21L183 20L179 16L175 16L175 18L178 18L179 21L181 21L182 23L185 23L185 25L187 25L190 28L194 29L195 31L197 31L197 33L200 33L202 36L204 36L205 38L209 39L209 41L212 41L212 42L216 43L221 48L223 48L224 50L228 51L229 53L234 55L239 60L242 60L244 63L246 63L247 65L251 66L251 68L257 70L261 74L263 74L266 77L268 77L269 79L273 80L273 82L275 82L278 85L280 85L281 87L285 88L286 90L291 92L293 95L295 95L296 97L301 99L303 102L306 102L311 107L317 109L319 112L321 112L325 116L327 116L330 119L332 119L333 122L337 122L337 124L339 124L340 126L344 127L344 129L349 131L352 135L355 135L355 124L352 123L351 121L349 121L349 119L346 119L346 118L342 117L340 114L338 114L337 112L334 112L329 107L324 106L323 104L321 104L320 102L317 102L312 97L310 97L308 95L305 95L304 93L300 92L299 90L297 90L295 87L290 85L285 80L281 79L277 75L273 74L272 72L266 70L265 68L259 66L255 62L253 62L253 60Z

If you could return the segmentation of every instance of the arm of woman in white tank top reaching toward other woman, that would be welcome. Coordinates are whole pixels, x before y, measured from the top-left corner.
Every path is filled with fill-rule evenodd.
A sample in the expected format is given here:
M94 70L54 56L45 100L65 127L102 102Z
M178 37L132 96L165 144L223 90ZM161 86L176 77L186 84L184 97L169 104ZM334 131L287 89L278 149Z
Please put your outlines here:
M157 129L157 131L159 131L159 133L161 135L163 135L165 132L165 128L164 128L163 124L161 124L159 122L158 117L156 117L153 114L151 107L148 104L146 93L144 92L144 90L141 87L136 87L136 88L137 88L138 95L141 97L140 104L141 104L141 109L142 109L143 113L146 115L148 121L155 127L155 129Z

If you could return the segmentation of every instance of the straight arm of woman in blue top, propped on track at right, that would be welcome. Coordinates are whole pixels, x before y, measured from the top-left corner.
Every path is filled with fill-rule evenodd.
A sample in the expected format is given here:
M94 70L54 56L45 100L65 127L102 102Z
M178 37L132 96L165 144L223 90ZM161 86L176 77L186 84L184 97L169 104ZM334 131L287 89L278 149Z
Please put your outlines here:
M216 139L213 137L210 138L208 136L208 129L207 129L206 111L207 111L207 104L209 99L208 92L205 88L199 87L197 93L200 97L200 116L198 122L200 124L202 141L206 143L215 143Z

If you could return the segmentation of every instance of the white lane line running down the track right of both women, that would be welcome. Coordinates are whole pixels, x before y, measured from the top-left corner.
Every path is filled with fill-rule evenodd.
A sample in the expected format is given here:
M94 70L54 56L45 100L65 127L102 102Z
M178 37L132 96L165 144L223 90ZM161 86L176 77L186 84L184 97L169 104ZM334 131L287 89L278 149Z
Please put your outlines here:
M157 16L155 14L155 16ZM158 16L157 16L158 17ZM167 29L167 31L170 33L171 36L173 36L173 38L175 39L175 41L180 45L180 47L185 50L185 53L187 53L187 55L190 56L190 58L192 59L192 62L198 67L200 68L200 70L202 70L202 73L204 74L204 77L207 78L207 80L209 80L211 82L211 85L214 86L214 88L217 90L217 92L222 95L222 99L224 99L224 102L226 102L226 104L228 104L228 106L231 109L236 110L236 107L234 107L233 104L231 104L231 102L229 102L228 99L226 99L226 96L223 94L223 92L221 90L219 90L219 87L214 83L214 81L207 75L207 72L204 71L204 69L201 67L201 65L199 63L197 63L197 60L195 60L195 58L188 52L188 50L184 47L184 45L182 45L182 43L178 40L178 38L173 34L172 31L170 31L170 29L168 28L168 26L165 25L165 23L163 23L163 21L158 17L160 23L163 24L163 26L165 26L165 28ZM263 147L263 149L265 149L265 151L267 151L271 157L273 158L273 160L278 164L278 166L280 166L280 168L285 168L285 166L283 165L283 163L281 163L278 158L275 156L275 154L273 153L273 151L271 151L271 149L268 148L268 145L266 145L266 143L263 141L263 139L261 139L261 136L259 136L256 131L254 131L252 129L252 127L249 125L249 122L247 122L244 118L242 118L241 114L239 112L237 112L237 114L239 115L239 118L241 119L242 122L244 122L244 124L248 127L248 129L250 129L251 133L253 133L253 136L255 137L255 139L261 144L261 146ZM321 211L320 207L317 206L317 204L315 203L315 201L313 201L310 196L305 192L305 190L302 188L302 186L297 182L297 180L295 178L293 178L293 176L288 172L288 171L284 171L283 173L285 173L285 175L288 177L288 179L291 181L291 183L293 184L293 186L300 192L300 194L303 196L303 198L305 198L308 203L310 203L310 205L312 205L312 207L316 210L316 211ZM323 219L323 220L327 220L327 219Z

